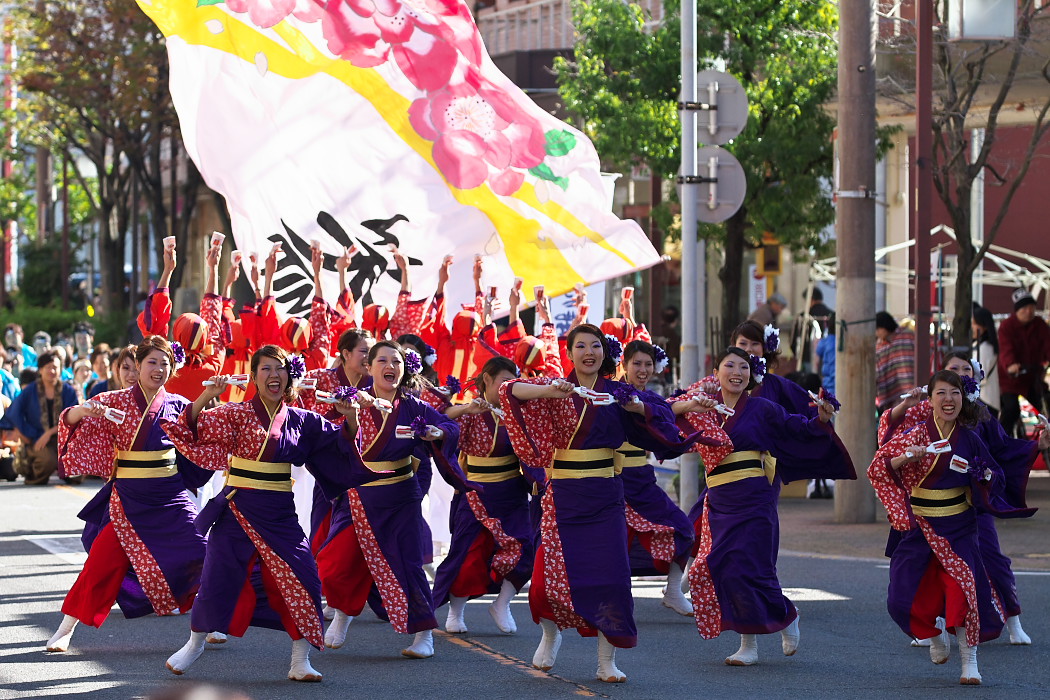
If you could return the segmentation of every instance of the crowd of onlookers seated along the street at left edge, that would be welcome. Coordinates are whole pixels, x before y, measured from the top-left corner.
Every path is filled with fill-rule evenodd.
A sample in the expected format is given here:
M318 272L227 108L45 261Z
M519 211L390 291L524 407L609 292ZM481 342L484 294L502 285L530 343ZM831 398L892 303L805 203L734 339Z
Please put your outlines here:
M26 342L28 340L28 342ZM134 383L133 352L94 344L94 330L78 323L71 336L54 343L44 332L26 339L21 326L4 327L0 367L0 480L23 476L28 485L46 484L58 472L58 426L62 410L102 391Z

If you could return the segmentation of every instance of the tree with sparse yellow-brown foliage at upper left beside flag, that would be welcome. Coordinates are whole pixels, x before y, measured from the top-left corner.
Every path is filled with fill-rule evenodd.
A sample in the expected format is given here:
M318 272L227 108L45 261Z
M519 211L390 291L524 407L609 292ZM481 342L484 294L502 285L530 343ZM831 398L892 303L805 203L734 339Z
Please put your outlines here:
M164 37L134 3L122 0L18 0L12 19L20 49L23 139L82 153L93 165L94 187L88 187L92 173L75 175L89 190L99 222L106 307L122 307L125 234L138 207L130 196L132 177L143 186L158 251L172 230L185 245L201 184L191 165L182 183L178 225L172 226L180 197L173 188L165 191L162 173L170 165L163 155L166 144L177 143L178 129Z

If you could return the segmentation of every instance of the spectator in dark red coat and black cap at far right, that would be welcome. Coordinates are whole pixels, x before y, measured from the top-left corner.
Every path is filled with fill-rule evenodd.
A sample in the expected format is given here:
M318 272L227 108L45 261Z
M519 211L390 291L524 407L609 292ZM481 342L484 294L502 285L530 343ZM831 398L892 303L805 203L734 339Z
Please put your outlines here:
M1024 396L1040 411L1046 410L1043 377L1050 363L1050 327L1035 315L1035 299L1028 290L1013 292L1013 315L999 325L999 364L1005 373L999 377L999 421L1009 436L1022 437L1017 422Z

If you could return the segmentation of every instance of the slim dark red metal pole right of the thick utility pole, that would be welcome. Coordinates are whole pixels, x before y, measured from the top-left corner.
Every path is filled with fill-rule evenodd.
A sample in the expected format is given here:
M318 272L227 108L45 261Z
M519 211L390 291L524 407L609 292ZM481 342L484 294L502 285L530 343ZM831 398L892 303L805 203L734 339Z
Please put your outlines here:
M911 237L916 262L916 381L924 384L932 374L930 364L929 307L930 198L933 191L933 0L916 3L916 206Z

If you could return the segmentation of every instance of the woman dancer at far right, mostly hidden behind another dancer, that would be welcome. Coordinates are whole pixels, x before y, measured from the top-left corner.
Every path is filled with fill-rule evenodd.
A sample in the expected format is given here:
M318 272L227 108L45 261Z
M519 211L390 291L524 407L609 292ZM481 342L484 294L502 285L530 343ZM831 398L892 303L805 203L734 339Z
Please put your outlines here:
M978 365L980 367L980 365ZM953 372L968 384L979 381L974 376L973 364L962 352L949 353L944 358L944 368ZM971 386L972 389L972 386ZM879 443L885 444L895 434L909 430L916 425L925 423L932 415L929 400L923 400L925 391L910 391L908 398L897 404L891 411L883 412L879 422ZM969 393L968 393L969 394ZM972 398L972 397L969 397ZM1035 461L1037 450L1050 446L1050 434L1041 433L1038 441L1017 440L1006 434L1006 430L989 411L982 410L978 401L978 422L974 432L988 448L988 452L1003 470L1005 487L1002 497L1005 504L999 504L1000 510L1009 511L1011 517L1030 516L1035 509L1028 508L1025 503L1025 489L1028 486L1028 474ZM1003 554L999 545L999 533L995 531L995 517L991 513L979 511L978 540L981 547L981 557L991 580L992 588L999 596L1006 615L1006 627L1010 633L1011 644L1030 644L1031 637L1021 627L1021 601L1017 598L1016 579L1010 570L1010 558ZM890 531L890 543L887 553L891 552L900 534ZM921 644L926 645L926 644Z

